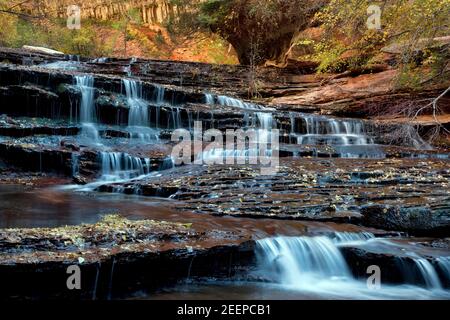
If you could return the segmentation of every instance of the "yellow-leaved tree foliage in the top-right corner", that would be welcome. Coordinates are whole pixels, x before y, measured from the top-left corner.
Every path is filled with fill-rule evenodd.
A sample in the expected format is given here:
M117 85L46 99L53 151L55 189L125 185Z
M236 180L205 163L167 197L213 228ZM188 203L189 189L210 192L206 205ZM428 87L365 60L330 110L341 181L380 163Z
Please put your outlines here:
M366 26L368 8L374 4L380 8L380 30ZM437 45L435 38L449 34L449 12L449 0L330 0L315 16L324 30L324 38L316 46L320 69L336 72L348 68L341 57L349 51L364 58L354 63L370 63L381 48L390 46L404 70L430 62L442 70L442 63L449 58L448 47Z

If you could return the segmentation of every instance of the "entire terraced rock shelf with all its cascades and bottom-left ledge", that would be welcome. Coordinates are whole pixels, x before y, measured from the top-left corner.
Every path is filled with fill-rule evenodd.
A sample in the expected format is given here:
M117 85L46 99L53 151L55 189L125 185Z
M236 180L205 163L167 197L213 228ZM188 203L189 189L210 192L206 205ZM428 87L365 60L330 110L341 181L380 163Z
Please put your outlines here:
M357 99L282 102L321 86L307 66L263 70L277 103L244 98L246 67L0 61L0 297L450 297L450 152L425 127L362 118ZM198 123L278 130L275 171L224 164L255 151L234 143L177 162L173 134ZM71 265L81 291L66 287Z

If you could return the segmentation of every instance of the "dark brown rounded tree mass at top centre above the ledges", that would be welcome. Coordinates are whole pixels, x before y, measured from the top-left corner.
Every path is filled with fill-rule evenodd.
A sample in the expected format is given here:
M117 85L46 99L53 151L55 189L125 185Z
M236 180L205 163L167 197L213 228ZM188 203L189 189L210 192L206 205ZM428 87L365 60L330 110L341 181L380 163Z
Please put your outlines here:
M206 0L199 20L232 44L241 64L285 65L296 36L326 2Z

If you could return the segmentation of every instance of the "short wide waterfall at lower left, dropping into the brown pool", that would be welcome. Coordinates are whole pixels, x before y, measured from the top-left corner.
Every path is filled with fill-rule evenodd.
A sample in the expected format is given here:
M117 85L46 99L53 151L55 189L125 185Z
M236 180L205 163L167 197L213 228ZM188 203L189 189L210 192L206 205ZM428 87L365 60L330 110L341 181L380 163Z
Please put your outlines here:
M150 173L150 159L123 152L101 152L102 180L132 179Z

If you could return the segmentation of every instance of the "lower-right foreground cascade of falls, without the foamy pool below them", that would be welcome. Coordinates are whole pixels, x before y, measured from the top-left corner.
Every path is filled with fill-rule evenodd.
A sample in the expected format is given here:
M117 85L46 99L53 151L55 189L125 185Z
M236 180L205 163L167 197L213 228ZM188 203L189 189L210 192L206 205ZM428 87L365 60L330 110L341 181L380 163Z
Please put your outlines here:
M331 287L340 290L339 286L332 285L336 281L344 287L353 286L355 290L360 290L365 284L352 276L340 252L340 247L378 240L368 232L335 232L331 238L333 240L325 236L276 237L258 240L256 255L260 272L276 283L302 290L315 290L314 287L318 285L318 282L320 282L319 286L323 285L326 290L330 290ZM380 241L390 243L387 240ZM398 245L392 243L392 246ZM423 283L427 290L442 291L443 286L435 267L427 259L415 253L406 252L406 254L415 265L415 270L411 270L411 266L400 259L402 263L399 265L399 271L404 274L406 283ZM439 258L437 262L441 273L449 278L450 258ZM420 279L414 273L418 274ZM342 280L345 280L345 283Z

